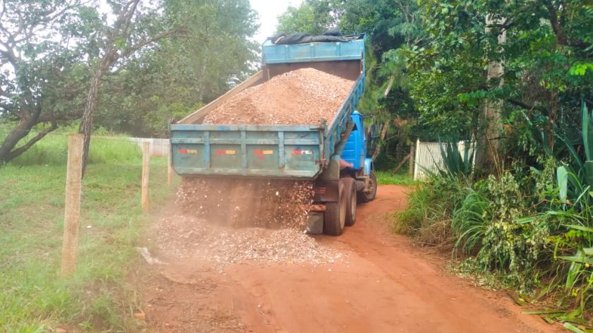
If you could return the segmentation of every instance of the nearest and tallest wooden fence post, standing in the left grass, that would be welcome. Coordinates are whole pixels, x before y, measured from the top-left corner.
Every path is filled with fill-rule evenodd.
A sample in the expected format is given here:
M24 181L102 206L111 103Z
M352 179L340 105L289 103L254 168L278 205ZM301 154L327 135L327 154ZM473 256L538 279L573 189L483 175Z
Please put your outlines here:
M78 229L80 225L80 190L83 183L83 135L68 136L66 164L66 202L64 202L64 239L60 274L67 277L76 271Z

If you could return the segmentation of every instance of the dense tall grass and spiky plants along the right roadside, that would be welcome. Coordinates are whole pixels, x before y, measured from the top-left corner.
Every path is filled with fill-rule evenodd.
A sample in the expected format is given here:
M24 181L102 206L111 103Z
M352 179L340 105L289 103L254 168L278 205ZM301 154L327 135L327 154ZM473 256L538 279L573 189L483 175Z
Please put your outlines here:
M552 298L563 311L551 319L592 326L593 115L585 103L581 114L580 140L556 135L553 151L542 147L539 168L514 164L474 181L448 145L445 169L409 194L396 230L450 246L461 269L486 284ZM449 238L431 233L426 241L437 225Z

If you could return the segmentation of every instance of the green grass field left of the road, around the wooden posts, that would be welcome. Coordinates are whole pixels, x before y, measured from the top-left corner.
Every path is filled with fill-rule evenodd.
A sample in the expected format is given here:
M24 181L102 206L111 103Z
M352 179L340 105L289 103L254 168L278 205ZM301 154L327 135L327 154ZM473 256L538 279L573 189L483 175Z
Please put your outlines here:
M92 140L78 266L60 279L65 147L65 135L44 138L0 168L0 331L134 331L135 291L126 277L149 222L140 208L140 152L123 140ZM152 202L172 195L166 177L167 160L153 157Z

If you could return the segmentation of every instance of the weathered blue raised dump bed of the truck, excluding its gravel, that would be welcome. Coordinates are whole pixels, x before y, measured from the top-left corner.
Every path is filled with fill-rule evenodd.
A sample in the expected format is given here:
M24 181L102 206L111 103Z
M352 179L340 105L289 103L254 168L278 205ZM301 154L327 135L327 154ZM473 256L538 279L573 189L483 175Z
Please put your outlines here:
M311 125L202 123L210 111L246 88L299 68L316 68L354 80L333 119ZM361 35L347 42L275 45L267 41L263 44L262 71L170 126L173 168L185 176L316 178L328 166L363 91Z

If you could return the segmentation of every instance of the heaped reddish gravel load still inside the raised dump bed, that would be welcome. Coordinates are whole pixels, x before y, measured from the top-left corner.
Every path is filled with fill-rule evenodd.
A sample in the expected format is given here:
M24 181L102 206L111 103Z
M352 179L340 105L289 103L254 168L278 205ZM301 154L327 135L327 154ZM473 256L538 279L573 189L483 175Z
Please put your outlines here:
M345 101L354 81L301 68L277 75L230 97L205 116L204 123L318 124L328 123Z

